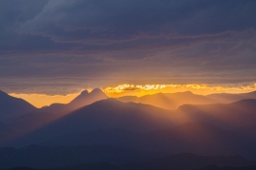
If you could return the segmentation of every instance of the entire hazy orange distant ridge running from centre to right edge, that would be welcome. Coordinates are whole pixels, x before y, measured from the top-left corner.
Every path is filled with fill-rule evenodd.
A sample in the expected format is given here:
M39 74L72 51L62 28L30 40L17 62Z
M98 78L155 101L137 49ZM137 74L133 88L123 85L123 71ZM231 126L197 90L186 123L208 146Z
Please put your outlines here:
M142 97L124 96L117 100L128 103L151 104L161 108L174 110L182 104L229 104L243 99L256 99L256 91L245 94L212 94L196 95L190 91L179 93L158 93Z

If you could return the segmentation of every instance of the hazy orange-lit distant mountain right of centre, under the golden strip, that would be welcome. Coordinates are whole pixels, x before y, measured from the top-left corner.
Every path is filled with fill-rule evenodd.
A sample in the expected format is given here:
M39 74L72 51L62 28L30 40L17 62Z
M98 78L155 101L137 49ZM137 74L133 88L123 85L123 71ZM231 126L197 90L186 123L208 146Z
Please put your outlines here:
M214 104L213 100L202 95L193 94L190 91L179 93L158 93L142 97L124 96L117 98L121 102L134 102L140 104L151 104L161 108L174 110L182 104Z

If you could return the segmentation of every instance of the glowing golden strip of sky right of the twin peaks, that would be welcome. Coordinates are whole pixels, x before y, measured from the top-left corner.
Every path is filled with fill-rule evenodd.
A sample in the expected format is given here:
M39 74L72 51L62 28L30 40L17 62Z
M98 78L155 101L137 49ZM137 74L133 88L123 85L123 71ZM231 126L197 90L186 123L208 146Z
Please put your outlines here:
M245 93L256 90L254 85L117 85L104 88L104 92L110 97L125 95L143 96L155 93L175 93L191 91L195 94L207 95L212 93Z

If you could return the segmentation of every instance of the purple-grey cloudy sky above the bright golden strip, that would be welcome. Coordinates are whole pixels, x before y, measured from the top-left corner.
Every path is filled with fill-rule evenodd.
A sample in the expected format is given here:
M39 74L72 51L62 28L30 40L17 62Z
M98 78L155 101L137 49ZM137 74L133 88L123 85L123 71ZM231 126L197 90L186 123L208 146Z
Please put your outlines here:
M252 91L255 9L255 0L0 0L0 89L63 98L118 85Z

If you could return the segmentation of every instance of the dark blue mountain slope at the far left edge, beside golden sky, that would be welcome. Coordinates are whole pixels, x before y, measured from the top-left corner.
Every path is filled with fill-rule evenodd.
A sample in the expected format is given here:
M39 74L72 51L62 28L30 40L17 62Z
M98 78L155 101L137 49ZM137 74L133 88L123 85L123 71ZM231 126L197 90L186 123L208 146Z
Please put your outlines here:
M0 121L10 123L11 121L22 117L36 108L28 102L11 97L0 90Z

